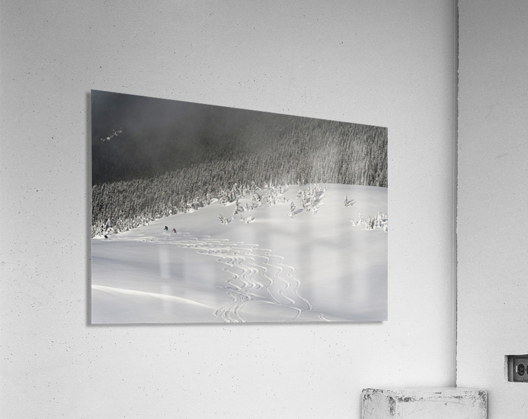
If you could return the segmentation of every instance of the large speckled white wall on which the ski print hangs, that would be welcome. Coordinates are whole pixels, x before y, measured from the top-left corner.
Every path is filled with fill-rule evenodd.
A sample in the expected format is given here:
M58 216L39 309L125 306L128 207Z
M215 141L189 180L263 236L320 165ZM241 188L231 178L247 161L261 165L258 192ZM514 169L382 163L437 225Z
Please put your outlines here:
M363 387L453 385L452 3L2 0L2 416L359 418ZM389 321L90 326L90 89L388 127Z

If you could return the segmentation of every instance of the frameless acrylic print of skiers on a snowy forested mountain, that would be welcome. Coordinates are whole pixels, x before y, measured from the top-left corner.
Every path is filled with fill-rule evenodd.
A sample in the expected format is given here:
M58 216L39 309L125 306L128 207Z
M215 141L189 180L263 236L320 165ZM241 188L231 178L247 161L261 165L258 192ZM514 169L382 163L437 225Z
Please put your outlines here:
M92 323L387 318L387 130L91 92Z

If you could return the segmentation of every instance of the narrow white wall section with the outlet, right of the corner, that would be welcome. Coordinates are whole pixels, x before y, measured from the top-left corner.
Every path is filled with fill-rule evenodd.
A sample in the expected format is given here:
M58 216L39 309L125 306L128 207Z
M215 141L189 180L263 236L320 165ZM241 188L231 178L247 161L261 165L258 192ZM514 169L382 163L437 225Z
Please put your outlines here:
M457 384L528 417L504 356L528 353L528 3L461 0Z

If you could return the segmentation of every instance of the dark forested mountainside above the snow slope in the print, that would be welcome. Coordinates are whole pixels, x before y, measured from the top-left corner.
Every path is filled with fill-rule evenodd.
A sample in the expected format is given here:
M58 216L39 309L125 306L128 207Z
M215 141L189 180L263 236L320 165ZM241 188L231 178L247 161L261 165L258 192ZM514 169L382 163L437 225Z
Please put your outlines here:
M382 127L92 91L92 236L265 185L386 187Z

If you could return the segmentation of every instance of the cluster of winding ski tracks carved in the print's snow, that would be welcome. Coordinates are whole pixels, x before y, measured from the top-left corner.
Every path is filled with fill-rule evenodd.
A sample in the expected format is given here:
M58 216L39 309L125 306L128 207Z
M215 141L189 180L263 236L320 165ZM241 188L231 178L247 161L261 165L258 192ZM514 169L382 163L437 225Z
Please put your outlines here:
M225 264L223 270L230 275L226 280L227 286L223 288L231 301L214 311L214 315L225 322L246 321L244 307L256 301L292 309L294 313L287 321L294 321L303 311L313 308L297 291L300 281L293 276L294 268L284 264L282 256L274 255L270 249L263 249L257 244L211 239L210 236L193 236L189 233L165 237L113 236L112 241L174 244L216 257L216 261Z

